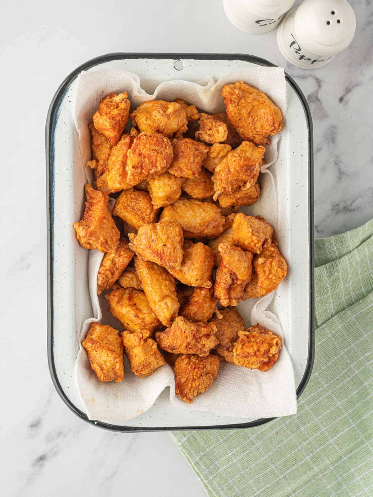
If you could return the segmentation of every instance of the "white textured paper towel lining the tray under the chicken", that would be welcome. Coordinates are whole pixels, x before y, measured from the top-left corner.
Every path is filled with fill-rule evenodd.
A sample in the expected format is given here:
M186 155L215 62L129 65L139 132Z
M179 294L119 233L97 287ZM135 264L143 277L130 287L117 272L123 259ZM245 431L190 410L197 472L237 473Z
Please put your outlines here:
M127 91L131 110L146 100L182 98L202 111L216 113L224 110L224 101L220 96L223 84L236 81L244 81L260 88L275 101L285 115L286 83L281 68L242 69L223 76L217 82L210 78L206 86L181 80L164 82L156 88L153 95L147 94L141 88L136 75L126 71L81 73L77 82L74 119L79 134L82 167L91 159L88 124L92 121L100 99L111 91L115 93ZM262 167L260 175L262 193L258 202L250 208L242 209L244 212L247 210L251 215L260 214L273 225L275 231L278 228L276 189L274 178L267 168L276 161L279 138L280 134L272 137L271 144L266 147L267 164ZM100 252L91 250L89 287L94 316L85 322L80 333L80 341L85 337L93 321L102 320L103 324L109 324L120 330L118 322L105 310L107 306L104 297L98 298L96 294L97 272L101 259ZM239 304L238 309L247 327L259 323L284 338L279 320L268 310L273 297L274 292L260 299L246 300ZM192 404L186 404L175 396L174 372L168 364L158 368L147 378L138 378L130 370L125 358L123 382L98 382L82 346L76 361L76 380L89 419L113 424L124 423L147 411L166 387L170 387L171 403L189 411L199 410L227 416L257 418L294 414L297 408L293 369L285 344L275 366L266 373L222 363L212 387L203 395L196 397Z

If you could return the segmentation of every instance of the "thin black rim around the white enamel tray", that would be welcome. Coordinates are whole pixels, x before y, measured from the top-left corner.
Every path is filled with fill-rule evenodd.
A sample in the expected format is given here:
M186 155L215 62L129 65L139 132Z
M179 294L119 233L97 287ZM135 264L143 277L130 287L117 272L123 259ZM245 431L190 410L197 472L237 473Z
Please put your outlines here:
M275 64L256 57L254 55L246 54L173 54L173 53L113 53L106 54L91 59L85 62L77 69L75 69L64 81L61 83L60 87L56 91L52 102L50 104L45 130L45 150L46 150L46 179L47 179L47 264L48 264L48 274L47 274L47 304L48 304L48 333L47 333L47 346L48 346L48 365L49 371L52 377L53 384L65 404L73 411L77 416L79 416L84 421L92 424L93 426L98 426L106 430L119 431L119 432L137 432L137 431L178 431L178 430L216 430L216 429L233 429L233 428L250 428L252 426L258 426L260 424L268 423L275 417L256 419L255 421L250 421L247 423L232 423L232 424L221 424L213 426L159 426L159 427L141 427L141 426L119 426L114 424L104 423L102 421L90 420L83 411L81 411L77 406L75 406L71 400L67 397L61 384L58 380L56 374L56 368L54 363L53 355L53 226L51 220L53 219L54 210L54 147L53 147L53 134L57 118L57 110L61 104L61 101L65 95L67 88L70 84L78 77L79 73L86 71L98 64L104 62L109 62L117 59L195 59L195 60L242 60L246 62L251 62L259 66L277 67ZM313 367L314 360L314 335L315 335L315 325L314 325L314 256L313 256L313 134L312 134L312 118L311 112L309 110L307 100L300 90L299 86L294 82L294 80L285 73L285 79L287 83L293 88L297 94L306 116L307 127L308 127L308 163L309 163L309 180L308 180L308 192L309 192L309 229L310 229L310 261L309 261L309 339L308 339L308 358L307 365L303 374L303 377L296 389L297 398L300 397L303 390L305 389L308 380L311 376L311 371Z

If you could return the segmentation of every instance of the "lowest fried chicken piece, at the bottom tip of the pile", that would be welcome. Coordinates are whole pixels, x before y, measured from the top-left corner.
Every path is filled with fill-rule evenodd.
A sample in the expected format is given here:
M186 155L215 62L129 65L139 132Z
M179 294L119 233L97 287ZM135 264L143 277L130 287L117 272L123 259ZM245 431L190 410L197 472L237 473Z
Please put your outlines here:
M180 355L175 362L175 393L190 404L216 380L220 366L217 355Z

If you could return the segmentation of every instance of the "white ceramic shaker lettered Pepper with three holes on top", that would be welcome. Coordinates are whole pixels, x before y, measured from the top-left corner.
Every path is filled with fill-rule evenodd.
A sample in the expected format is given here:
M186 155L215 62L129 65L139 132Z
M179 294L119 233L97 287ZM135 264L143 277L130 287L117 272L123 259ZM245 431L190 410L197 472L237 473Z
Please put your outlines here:
M277 43L288 62L316 69L350 45L355 29L355 13L346 0L304 0L284 17Z

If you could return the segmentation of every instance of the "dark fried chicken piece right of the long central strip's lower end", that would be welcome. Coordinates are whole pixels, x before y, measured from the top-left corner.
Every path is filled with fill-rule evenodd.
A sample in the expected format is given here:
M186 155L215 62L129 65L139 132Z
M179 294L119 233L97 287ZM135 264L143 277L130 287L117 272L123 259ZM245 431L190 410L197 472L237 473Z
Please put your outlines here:
M218 299L214 296L213 288L195 288L189 295L187 302L180 309L180 316L189 321L202 321L206 323L214 312L219 316L216 304Z

